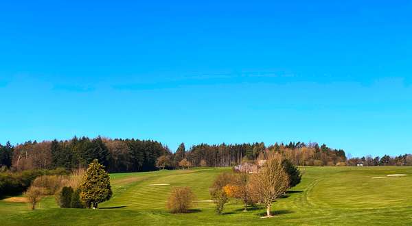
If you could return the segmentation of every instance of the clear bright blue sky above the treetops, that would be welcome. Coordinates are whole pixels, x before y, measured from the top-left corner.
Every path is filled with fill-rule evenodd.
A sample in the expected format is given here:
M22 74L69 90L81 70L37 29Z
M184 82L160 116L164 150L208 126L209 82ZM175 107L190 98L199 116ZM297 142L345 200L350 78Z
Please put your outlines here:
M0 142L412 153L411 1L1 1Z

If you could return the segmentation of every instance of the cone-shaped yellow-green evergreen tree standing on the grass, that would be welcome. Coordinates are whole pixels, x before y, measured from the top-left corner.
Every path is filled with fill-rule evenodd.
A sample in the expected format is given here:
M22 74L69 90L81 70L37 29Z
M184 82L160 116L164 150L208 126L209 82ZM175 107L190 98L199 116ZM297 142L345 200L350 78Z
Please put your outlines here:
M98 160L93 160L87 168L86 174L80 184L80 197L87 208L98 208L98 203L102 203L112 196L110 177L104 170L104 166Z

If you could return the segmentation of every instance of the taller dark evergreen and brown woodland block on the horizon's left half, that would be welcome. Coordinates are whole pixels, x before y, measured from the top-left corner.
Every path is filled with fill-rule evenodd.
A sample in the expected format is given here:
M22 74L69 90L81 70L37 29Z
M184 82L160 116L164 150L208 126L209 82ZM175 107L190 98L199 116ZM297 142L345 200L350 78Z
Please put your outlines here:
M53 168L86 168L97 159L109 172L156 170L156 160L171 154L168 147L154 140L77 138L23 144L0 145L0 167L12 171Z

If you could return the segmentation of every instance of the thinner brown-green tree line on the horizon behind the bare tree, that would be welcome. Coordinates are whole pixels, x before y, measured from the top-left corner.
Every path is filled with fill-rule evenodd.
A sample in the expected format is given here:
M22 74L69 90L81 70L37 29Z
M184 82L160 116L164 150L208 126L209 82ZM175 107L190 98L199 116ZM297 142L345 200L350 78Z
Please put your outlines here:
M266 151L281 153L284 158L300 166L335 166L345 162L345 151L336 150L326 145L317 143L290 142L288 145L275 143L266 147L264 142L243 143L235 145L194 145L185 151L182 143L174 155L169 157L169 162L163 166L179 166L181 160L187 160L192 166L236 166L245 160L258 160L264 158Z

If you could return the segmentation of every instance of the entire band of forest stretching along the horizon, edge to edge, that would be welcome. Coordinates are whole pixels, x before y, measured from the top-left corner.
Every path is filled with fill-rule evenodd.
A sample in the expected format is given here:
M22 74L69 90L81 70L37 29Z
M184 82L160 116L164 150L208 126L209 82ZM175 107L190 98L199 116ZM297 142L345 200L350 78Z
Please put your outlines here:
M92 160L98 159L109 172L137 172L156 170L159 158L163 157L163 167L179 168L185 160L187 166L234 166L244 160L262 158L265 151L282 153L293 164L300 166L343 166L363 163L366 166L412 165L411 155L395 158L366 156L347 160L345 151L331 149L317 143L290 142L265 146L263 142L235 145L200 144L185 148L182 143L172 153L170 149L154 140L77 138L43 142L27 141L12 146L10 142L0 145L0 167L12 171L53 168L84 168Z

